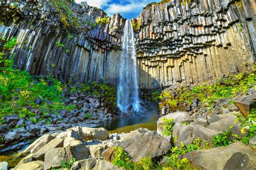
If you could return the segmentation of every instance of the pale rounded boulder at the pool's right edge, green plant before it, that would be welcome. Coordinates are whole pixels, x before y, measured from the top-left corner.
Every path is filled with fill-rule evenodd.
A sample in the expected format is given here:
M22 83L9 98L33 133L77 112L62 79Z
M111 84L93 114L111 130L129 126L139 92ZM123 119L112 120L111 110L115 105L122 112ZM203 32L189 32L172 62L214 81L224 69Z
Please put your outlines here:
M160 135L164 131L163 127L165 123L163 122L163 118L173 119L174 123L185 123L185 122L190 123L191 122L190 115L188 115L188 113L185 111L178 111L178 112L174 112L174 113L165 115L163 117L160 117L157 121L157 133L159 133Z

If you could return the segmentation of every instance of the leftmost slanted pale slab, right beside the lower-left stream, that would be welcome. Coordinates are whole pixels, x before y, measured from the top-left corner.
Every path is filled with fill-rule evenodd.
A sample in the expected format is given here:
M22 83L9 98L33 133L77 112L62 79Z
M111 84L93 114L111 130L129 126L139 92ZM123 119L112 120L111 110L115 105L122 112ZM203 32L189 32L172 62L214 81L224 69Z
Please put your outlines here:
M54 138L55 137L50 134L45 134L29 145L29 147L27 147L22 153L36 153Z

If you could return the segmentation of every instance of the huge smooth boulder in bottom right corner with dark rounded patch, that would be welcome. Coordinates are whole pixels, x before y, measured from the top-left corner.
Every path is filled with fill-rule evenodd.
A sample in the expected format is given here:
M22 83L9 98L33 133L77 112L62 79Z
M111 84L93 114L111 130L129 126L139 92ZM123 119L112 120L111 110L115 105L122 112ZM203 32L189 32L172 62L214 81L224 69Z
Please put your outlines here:
M240 142L210 150L197 150L186 153L187 158L198 169L254 169L256 153Z

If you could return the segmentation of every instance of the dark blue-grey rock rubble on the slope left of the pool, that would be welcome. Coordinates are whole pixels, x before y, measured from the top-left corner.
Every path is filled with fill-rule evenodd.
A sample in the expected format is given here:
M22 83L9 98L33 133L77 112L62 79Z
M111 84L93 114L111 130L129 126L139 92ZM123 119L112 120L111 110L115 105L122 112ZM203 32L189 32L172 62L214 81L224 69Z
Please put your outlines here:
M44 115L42 109L26 107L37 115L37 120L42 118L39 122L31 122L29 117L6 115L6 124L0 125L0 135L5 144L41 136L47 132L62 132L78 125L96 127L100 122L117 118L120 114L117 109L104 104L104 99L100 96L90 96L79 91L70 93L65 89L64 91L66 95L63 102L66 105L72 104L75 108L72 111L57 110L54 114ZM38 99L37 102L41 101ZM50 103L52 102L48 104Z

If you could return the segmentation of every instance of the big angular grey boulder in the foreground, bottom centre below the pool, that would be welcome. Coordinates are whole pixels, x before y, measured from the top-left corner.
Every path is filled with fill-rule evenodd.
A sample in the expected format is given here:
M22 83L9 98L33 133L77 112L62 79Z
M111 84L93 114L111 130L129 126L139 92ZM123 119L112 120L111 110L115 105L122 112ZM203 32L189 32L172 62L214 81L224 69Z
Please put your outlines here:
M171 144L156 131L139 128L117 141L117 146L122 147L137 162L142 158L158 157L166 154Z

